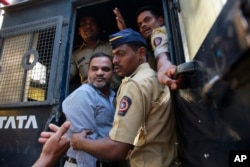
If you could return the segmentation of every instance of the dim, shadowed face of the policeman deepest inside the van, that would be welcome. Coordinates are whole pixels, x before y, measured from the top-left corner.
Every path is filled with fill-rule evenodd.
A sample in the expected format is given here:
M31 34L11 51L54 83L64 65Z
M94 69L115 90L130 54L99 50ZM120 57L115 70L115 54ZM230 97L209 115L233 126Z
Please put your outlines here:
M79 26L79 34L83 40L97 39L99 28L95 19L90 16L82 18Z

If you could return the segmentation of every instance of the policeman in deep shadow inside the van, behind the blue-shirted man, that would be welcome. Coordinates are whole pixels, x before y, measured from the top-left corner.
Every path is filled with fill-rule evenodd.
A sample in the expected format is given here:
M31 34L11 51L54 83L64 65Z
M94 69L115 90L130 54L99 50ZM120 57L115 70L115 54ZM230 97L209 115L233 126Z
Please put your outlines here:
M90 57L100 52L110 55L112 48L108 42L98 39L100 27L93 16L85 15L80 19L78 32L83 43L81 47L74 51L71 57L70 78L74 78L79 72L81 83L87 83ZM114 74L111 88L116 91L120 83L121 79Z

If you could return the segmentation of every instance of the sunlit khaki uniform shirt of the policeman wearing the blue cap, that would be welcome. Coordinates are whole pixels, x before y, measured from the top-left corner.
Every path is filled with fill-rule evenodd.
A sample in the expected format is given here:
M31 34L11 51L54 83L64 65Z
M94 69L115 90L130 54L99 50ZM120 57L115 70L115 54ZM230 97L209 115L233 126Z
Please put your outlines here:
M109 136L134 145L131 167L168 167L174 164L175 120L170 111L170 92L158 82L148 63L122 80Z

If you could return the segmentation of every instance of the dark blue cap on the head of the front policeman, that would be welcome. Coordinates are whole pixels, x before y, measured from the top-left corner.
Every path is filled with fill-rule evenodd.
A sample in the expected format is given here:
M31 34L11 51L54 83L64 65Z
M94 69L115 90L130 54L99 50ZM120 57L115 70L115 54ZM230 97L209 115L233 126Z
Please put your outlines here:
M131 28L127 28L115 34L109 35L109 42L113 49L130 42L141 42L142 44L147 46L147 42L144 37Z

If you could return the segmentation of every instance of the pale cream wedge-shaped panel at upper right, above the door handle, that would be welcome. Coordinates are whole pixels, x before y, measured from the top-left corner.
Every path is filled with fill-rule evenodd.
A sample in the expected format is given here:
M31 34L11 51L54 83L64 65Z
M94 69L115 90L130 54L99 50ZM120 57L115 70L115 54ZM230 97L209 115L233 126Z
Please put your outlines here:
M193 59L227 0L180 0L182 36ZM183 28L185 27L185 28ZM187 59L187 58L186 58Z

